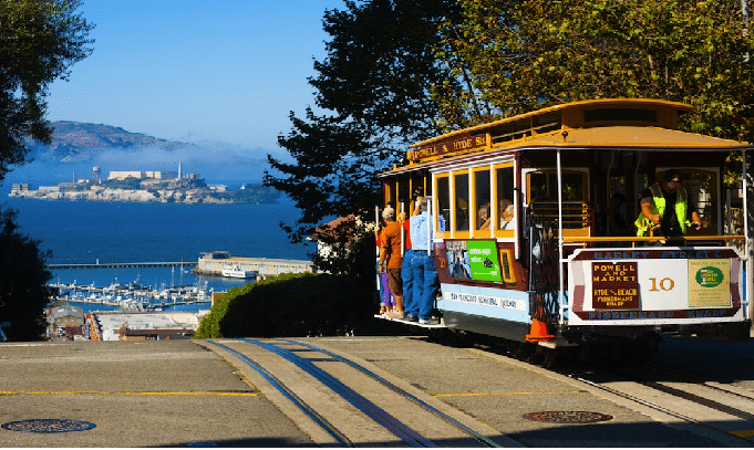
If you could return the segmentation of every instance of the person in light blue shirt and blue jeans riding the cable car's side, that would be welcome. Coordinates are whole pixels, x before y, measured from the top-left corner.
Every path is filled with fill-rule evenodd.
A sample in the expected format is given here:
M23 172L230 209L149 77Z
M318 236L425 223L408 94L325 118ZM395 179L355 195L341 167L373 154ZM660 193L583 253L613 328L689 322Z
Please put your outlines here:
M440 287L437 280L437 266L435 265L434 252L427 250L432 245L432 216L430 206L432 197L424 197L420 203L421 213L411 218L411 272L414 279L413 304L417 304L416 314L420 325L436 325L437 320L432 318L432 310L435 306L435 293ZM409 315L414 314L410 311Z

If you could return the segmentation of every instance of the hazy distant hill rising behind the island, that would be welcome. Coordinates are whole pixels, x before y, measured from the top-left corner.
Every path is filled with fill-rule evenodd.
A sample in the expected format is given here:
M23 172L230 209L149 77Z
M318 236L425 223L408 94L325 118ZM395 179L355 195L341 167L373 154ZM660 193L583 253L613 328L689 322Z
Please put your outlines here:
M54 128L52 143L47 146L34 140L28 140L30 156L55 163L74 163L90 160L96 154L106 150L142 150L145 148L161 148L172 151L179 148L195 147L193 144L177 143L147 136L141 133L130 133L111 125L86 124L81 122L52 122Z

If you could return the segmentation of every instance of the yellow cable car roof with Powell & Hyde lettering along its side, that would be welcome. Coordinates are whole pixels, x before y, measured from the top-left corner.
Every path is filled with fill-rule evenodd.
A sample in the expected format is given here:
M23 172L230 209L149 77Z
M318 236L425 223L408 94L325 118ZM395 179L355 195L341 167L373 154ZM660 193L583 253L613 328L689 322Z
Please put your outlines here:
M678 117L693 111L693 106L683 103L650 98L606 98L556 105L414 144L407 154L410 164L394 167L386 174L500 151L754 149L750 143L679 130Z

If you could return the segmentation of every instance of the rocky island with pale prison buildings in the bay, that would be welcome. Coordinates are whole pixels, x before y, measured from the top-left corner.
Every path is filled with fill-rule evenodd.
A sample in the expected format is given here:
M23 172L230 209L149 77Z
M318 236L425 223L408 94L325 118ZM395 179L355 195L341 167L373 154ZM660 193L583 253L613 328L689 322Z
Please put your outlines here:
M280 192L261 184L249 184L238 190L224 185L207 185L198 174L178 171L111 171L101 177L100 167L91 179L76 179L33 190L27 184L14 184L8 197L42 200L133 201L163 203L275 203Z

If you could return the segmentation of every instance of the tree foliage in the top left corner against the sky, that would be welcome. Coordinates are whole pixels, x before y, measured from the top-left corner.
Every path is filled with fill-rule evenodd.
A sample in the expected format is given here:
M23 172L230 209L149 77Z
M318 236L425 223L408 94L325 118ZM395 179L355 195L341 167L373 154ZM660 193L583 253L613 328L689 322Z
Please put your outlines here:
M23 164L31 137L44 144L50 83L91 54L93 25L75 13L76 0L0 1L0 180Z

